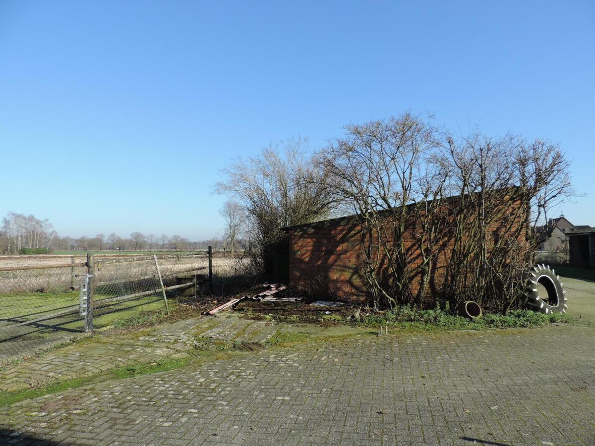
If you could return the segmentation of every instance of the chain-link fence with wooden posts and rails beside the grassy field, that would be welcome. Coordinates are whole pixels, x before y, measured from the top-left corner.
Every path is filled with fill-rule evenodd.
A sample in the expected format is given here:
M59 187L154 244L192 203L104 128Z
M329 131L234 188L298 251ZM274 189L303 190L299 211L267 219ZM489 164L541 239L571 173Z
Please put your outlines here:
M0 263L0 366L93 329L168 312L168 298L212 288L210 249L191 255L29 257L20 263L26 264Z

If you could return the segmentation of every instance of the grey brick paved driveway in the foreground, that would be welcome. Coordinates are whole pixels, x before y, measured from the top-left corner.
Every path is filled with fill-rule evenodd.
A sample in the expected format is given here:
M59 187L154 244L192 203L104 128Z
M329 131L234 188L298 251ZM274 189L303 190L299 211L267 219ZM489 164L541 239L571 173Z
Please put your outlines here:
M265 350L5 407L0 440L595 444L594 335L553 326Z

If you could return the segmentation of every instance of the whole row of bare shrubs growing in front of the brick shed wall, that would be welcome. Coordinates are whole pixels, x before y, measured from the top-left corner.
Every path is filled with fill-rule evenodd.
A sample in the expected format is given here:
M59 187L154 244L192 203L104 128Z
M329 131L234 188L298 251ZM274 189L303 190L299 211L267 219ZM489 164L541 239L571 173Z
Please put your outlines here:
M506 313L533 261L533 230L574 194L557 145L456 138L410 113L347 126L318 161L317 184L356 213L377 308L473 299Z

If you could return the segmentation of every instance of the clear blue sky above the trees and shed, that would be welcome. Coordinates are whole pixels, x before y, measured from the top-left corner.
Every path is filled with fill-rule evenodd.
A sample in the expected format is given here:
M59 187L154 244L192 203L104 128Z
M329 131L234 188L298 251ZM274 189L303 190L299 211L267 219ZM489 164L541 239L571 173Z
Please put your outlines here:
M595 2L0 0L0 216L208 238L218 169L411 109L546 137L595 225Z

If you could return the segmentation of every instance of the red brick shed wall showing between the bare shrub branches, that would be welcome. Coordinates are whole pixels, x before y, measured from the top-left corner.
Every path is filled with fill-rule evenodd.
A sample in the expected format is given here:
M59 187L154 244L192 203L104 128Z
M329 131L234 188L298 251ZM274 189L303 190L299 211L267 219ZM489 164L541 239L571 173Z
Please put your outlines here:
M511 206L510 210L513 208ZM519 209L518 205L516 209ZM524 225L525 220L519 219L516 224ZM500 222L488 228L488 240L494 236L506 237L506 234L500 234L501 225ZM403 239L412 265L419 265L422 259L414 235L415 222L412 221ZM377 237L374 239L377 240ZM452 245L452 235L446 231L440 243L434 277L439 278L444 274ZM317 290L317 296L321 299L364 301L368 296L359 276L361 249L361 228L349 219L335 219L290 229L290 282ZM419 282L418 277L412 279L414 293L418 291Z

